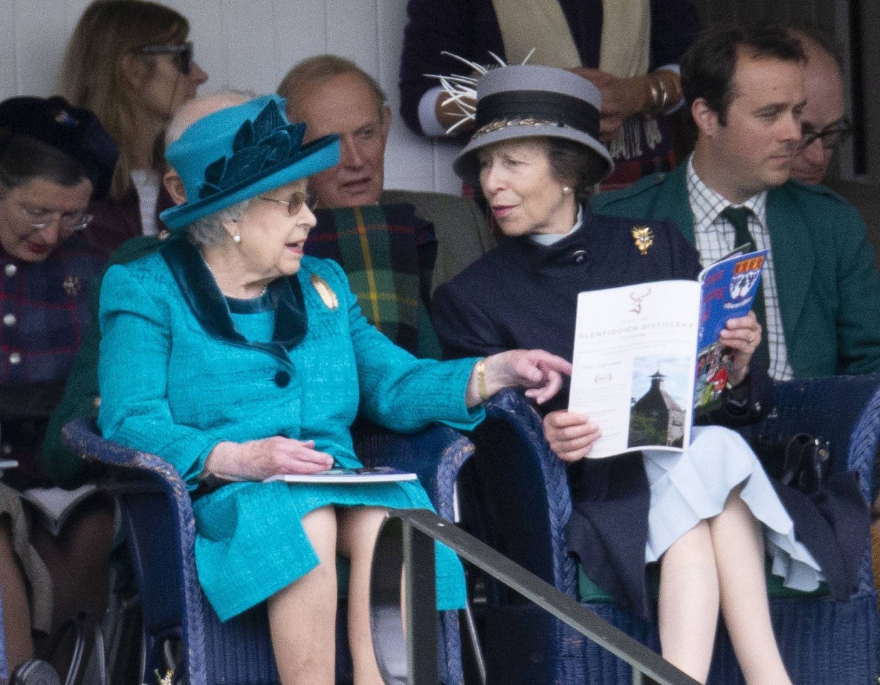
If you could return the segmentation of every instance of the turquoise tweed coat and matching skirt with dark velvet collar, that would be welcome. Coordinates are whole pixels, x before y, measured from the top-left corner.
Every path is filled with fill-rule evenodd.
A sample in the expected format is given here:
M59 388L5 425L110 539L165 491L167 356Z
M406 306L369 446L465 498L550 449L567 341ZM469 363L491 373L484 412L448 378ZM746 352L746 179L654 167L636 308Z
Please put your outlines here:
M338 298L322 298L315 281ZM99 427L104 436L163 457L194 489L219 441L284 435L357 466L348 428L360 406L383 426L414 432L431 421L471 429L465 389L474 360L417 360L361 314L341 267L303 259L269 287L275 333L249 342L191 245L106 273L100 296ZM416 482L224 485L194 503L195 560L221 619L267 599L318 562L300 520L329 504L427 507ZM461 568L438 550L438 606L464 600Z

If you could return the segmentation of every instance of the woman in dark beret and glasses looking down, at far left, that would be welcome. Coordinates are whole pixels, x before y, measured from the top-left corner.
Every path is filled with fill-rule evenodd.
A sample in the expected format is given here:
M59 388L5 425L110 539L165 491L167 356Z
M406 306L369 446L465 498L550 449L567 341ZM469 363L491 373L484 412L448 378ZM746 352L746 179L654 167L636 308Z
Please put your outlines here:
M4 484L20 490L51 485L40 468L40 442L88 324L89 283L104 267L82 230L92 218L90 200L102 197L110 186L115 162L116 146L91 112L57 97L11 98L0 104L0 447L4 459L18 462L18 468L4 472ZM6 485L0 488L0 511L9 515L10 539L29 580L33 626L48 631L52 583L40 558L29 551L18 495ZM83 531L91 532L80 536ZM77 541L92 544L99 537L88 515L74 515L60 537L46 533L37 545L51 566L55 550L76 554ZM109 534L107 538L108 545ZM73 558L68 557L64 573L79 578L84 571L83 582L77 597L57 598L56 614L63 614L56 616L59 620L86 608L81 601L95 596L99 603L106 601L106 570L104 586L92 586L89 579L99 586L100 574L88 564L77 566ZM24 630L25 638L20 644L15 641L20 632L16 626L26 618L17 612L23 606L26 615L27 601L15 602L8 581L0 571L14 665L29 655L31 638L30 630Z

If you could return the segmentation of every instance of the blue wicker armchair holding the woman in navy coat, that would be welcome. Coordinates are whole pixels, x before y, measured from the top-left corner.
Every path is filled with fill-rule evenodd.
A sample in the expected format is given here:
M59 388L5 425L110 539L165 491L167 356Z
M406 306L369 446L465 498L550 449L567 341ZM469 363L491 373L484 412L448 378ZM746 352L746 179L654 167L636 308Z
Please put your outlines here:
M804 431L831 441L832 470L858 472L868 499L880 437L880 376L831 377L778 383L776 408L747 437ZM564 465L544 440L539 415L506 390L487 406L488 419L472 435L475 457L459 483L471 532L569 596L577 596L576 565L568 557L565 523L571 499ZM488 681L623 685L623 662L567 625L488 583L483 651ZM658 648L656 627L609 602L588 603L599 616ZM801 685L865 685L877 674L877 604L865 550L859 589L849 601L788 596L771 599L782 657ZM743 683L723 630L709 682Z

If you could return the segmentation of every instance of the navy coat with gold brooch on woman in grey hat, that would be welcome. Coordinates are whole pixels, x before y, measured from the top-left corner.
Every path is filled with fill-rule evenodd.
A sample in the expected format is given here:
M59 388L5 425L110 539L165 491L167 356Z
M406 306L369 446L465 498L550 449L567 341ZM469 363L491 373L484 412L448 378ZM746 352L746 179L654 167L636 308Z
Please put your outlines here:
M646 254L633 237L633 229L644 226L654 237ZM584 207L582 227L556 244L510 238L438 288L432 317L447 356L539 347L570 360L578 293L694 279L699 271L697 252L673 223L592 215ZM747 391L743 407L722 404L703 422L737 427L766 416L773 386L766 368L759 368L754 359ZM541 411L564 408L567 402L568 392L563 391ZM641 456L581 460L569 467L568 475L574 504L568 521L569 550L615 601L650 618L653 607L644 565L649 484ZM781 500L798 536L822 565L832 590L847 596L854 577L850 580L853 574L843 570L832 528L800 493L783 489L788 492L781 493ZM853 557L852 567L857 569L858 552L845 556Z

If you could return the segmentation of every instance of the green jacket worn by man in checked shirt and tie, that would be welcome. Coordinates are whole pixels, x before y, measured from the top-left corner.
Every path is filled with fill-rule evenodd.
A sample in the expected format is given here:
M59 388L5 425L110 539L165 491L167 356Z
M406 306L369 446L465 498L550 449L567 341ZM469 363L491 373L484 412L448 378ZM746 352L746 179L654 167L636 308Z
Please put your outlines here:
M686 164L601 193L597 214L670 219L690 244ZM880 274L856 209L825 186L767 193L767 226L788 361L798 378L880 371Z

